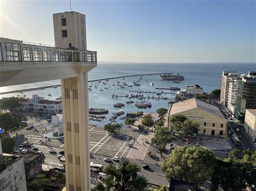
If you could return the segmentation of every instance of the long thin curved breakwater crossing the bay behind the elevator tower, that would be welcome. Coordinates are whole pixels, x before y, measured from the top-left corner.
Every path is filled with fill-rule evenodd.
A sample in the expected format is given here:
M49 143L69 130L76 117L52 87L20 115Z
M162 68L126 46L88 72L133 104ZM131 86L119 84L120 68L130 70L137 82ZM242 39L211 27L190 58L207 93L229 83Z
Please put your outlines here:
M116 78L120 78L120 77L161 75L161 74L171 74L171 72L169 72L169 73L136 74L136 75L125 75L125 76L107 77L107 78L98 79L98 80L89 80L88 82L96 82L96 81L101 81L101 80L111 80L111 79L116 79ZM39 90L39 89L45 89L45 88L52 88L53 86L59 87L59 86L61 86L61 84L51 85L51 86L43 86L43 87L37 87L37 88L35 87L35 88L27 88L27 89L18 89L18 90L4 91L4 92L1 92L0 95L12 94L12 93L21 93L21 92L27 92L27 91L33 91L33 90Z

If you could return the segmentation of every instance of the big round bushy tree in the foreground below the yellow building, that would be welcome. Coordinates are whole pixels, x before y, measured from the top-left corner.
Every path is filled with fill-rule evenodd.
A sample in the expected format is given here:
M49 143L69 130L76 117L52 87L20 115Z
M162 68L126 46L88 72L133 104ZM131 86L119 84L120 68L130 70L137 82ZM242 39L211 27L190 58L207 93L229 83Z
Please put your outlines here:
M176 148L161 166L167 179L171 177L194 183L196 187L211 177L215 157L202 147Z

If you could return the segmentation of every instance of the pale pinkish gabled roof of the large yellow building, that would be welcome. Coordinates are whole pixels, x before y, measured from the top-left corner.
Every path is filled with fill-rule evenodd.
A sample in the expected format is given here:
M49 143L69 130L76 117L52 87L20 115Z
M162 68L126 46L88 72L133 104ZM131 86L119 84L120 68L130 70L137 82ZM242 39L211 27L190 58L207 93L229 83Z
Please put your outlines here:
M180 112L196 109L196 108L199 108L206 112L210 112L215 116L226 119L226 117L218 107L216 107L215 105L208 104L204 101L198 100L197 98L191 98L189 100L172 104L172 107L169 110L169 115L179 114Z

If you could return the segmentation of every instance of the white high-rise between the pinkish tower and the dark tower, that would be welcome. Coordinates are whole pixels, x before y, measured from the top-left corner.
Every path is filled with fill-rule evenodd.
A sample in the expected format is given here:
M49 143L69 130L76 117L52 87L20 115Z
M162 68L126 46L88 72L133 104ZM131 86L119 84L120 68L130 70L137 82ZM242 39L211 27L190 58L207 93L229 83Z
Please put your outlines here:
M234 107L237 104L238 82L240 77L230 77L230 86L228 88L227 109L234 114Z

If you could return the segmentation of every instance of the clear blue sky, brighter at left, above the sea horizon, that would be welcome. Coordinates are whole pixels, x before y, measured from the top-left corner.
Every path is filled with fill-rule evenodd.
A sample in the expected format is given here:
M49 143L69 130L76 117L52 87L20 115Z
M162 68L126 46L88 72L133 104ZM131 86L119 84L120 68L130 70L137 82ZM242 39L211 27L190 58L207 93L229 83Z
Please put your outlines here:
M98 61L255 62L255 0L71 0ZM0 37L54 45L69 0L0 0Z

